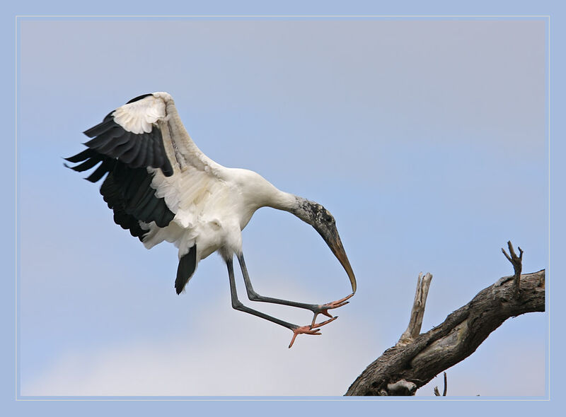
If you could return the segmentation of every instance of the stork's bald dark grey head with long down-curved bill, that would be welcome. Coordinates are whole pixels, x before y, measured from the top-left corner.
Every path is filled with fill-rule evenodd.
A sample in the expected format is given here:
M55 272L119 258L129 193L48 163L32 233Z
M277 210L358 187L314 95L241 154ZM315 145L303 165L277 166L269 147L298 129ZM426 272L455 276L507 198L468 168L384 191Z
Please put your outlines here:
M340 240L340 235L338 235L336 221L333 215L330 214L330 211L314 201L301 198L297 200L298 204L294 212L295 215L302 221L313 226L320 236L323 237L334 256L344 267L348 278L350 278L350 283L352 284L352 293L355 293L356 276L354 276L354 271L352 271L352 266L350 266L350 261L348 260L344 246L342 246L342 241Z

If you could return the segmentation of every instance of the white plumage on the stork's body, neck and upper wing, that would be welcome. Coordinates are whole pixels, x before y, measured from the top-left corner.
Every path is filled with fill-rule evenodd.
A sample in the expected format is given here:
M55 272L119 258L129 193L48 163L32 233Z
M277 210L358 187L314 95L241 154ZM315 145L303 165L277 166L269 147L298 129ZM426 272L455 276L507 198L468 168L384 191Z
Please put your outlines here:
M220 248L227 254L241 252L241 230L253 213L272 195L287 193L279 192L253 171L225 168L208 158L187 134L171 95L154 93L154 96L123 106L139 103L134 112L130 113L129 109L121 112L127 114L125 119L130 123L137 117L149 119L140 112L142 108L152 117L161 114L156 122L163 134L166 154L169 160L178 162L172 164L170 177L159 169L148 169L154 175L151 187L156 189L155 195L165 199L175 218L166 228L159 228L154 222L144 224L142 228L149 229L144 245L149 249L163 240L173 242L181 258L196 243L197 262ZM161 112L163 104L166 112ZM287 199L292 204L290 194Z

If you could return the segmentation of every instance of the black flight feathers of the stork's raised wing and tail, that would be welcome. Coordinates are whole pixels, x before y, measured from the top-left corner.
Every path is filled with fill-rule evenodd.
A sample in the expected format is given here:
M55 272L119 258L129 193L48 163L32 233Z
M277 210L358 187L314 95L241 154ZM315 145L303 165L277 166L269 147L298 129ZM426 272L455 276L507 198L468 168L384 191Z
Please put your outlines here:
M149 95L151 94L139 95L128 103ZM69 163L78 165L64 165L82 172L95 168L100 163L86 180L98 182L108 174L100 187L100 194L108 208L114 212L115 223L128 229L132 236L143 240L148 230L141 228L141 222L154 221L158 227L164 228L175 217L165 199L155 195L156 190L151 187L153 174L147 168L159 168L169 177L173 175L173 167L167 158L161 131L156 125L152 126L150 132L134 134L117 124L113 113L110 112L103 122L84 131L91 138L85 143L87 149L65 158ZM190 257L184 258L185 261L180 264L185 264L183 271L188 271L190 262L187 259L193 259L192 274L196 264L196 249L189 254ZM183 274L186 275L183 286L190 274Z

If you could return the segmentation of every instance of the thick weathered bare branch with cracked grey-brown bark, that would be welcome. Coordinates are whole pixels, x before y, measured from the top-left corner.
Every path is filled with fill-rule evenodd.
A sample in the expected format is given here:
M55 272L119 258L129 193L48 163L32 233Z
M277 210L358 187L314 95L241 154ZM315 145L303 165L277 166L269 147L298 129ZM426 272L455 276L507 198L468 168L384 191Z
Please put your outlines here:
M509 249L512 250L510 244ZM520 274L520 269L515 271ZM417 298L415 295L415 304ZM422 307L424 310L424 302ZM405 331L397 345L383 352L359 375L346 395L415 394L440 372L470 356L506 319L526 312L543 312L544 307L544 269L500 278L427 333L406 339Z

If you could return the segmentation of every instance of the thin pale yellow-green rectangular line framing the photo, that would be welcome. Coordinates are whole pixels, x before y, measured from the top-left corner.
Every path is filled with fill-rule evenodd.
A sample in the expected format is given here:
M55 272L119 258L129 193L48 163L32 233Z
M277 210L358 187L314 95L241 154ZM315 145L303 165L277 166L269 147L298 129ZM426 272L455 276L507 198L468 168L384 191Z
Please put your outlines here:
M277 399L219 399L212 397L211 399L98 399L98 398L84 398L84 399L25 399L18 398L18 19L20 18L545 18L548 24L548 265L546 271L550 269L550 15L16 15L15 16L15 74L14 74L14 178L15 178L15 400L16 401L382 401L381 399L347 399L347 397L328 398L328 399L285 399L280 397ZM548 281L548 280L547 280ZM547 283L548 294L550 294L550 283ZM550 295L548 295L548 362L550 363ZM526 399L478 399L471 397L470 399L444 399L444 401L550 401L550 366L547 369L548 376L548 397L547 398L526 398ZM417 399L412 401L431 401L431 399ZM387 401L408 401L407 399L388 399Z

